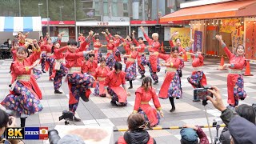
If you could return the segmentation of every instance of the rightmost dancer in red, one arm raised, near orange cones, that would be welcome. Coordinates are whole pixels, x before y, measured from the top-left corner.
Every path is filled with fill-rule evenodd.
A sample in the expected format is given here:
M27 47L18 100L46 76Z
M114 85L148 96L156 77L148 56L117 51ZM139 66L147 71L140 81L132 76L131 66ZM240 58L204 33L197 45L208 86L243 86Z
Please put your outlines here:
M244 90L244 81L242 77L242 69L246 66L246 58L244 57L245 48L242 45L238 45L236 48L237 54L232 54L223 42L222 36L216 35L216 38L221 43L227 57L230 59L230 64L225 64L223 66L224 68L229 68L229 74L227 75L227 103L233 107L238 106L238 100L244 100L246 98L246 91Z

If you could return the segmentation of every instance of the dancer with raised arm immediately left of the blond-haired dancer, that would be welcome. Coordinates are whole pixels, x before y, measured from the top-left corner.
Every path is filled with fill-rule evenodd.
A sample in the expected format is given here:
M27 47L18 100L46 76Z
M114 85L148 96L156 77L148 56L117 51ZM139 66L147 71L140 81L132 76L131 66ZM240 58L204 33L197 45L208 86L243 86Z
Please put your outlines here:
M134 45L136 46L135 49L138 51L138 57L137 57L137 62L138 62L138 73L142 75L142 78L145 78L145 65L146 65L146 57L145 57L145 54L144 54L144 50L145 50L145 44L143 42L143 38L142 37L139 37L138 38L138 41L135 39L135 36L134 36L134 32L132 33L133 35L133 42L134 42Z

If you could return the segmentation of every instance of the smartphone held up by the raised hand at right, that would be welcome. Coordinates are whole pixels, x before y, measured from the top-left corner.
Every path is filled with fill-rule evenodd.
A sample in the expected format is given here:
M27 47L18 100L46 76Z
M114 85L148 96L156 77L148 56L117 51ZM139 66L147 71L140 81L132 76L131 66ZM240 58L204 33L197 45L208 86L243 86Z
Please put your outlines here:
M196 88L194 89L194 99L207 100L206 96L213 98L213 94L208 90L213 90L212 88Z

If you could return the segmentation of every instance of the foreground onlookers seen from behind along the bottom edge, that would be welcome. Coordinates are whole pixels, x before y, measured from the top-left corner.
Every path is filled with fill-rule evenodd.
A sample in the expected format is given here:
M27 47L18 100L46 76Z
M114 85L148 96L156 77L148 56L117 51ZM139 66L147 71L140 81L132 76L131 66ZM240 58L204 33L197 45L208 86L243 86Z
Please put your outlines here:
M220 90L217 87L213 86L213 90L209 90L214 94L214 98L207 96L207 99L212 102L214 107L222 112L221 118L222 122L225 123L226 127L222 130L220 135L220 142L222 144L234 143L234 144L255 144L256 143L256 126L255 126L255 117L256 117L256 104L252 106L242 104L235 107L234 109L226 108L222 102L222 96ZM1 107L0 107L1 108ZM6 111L0 109L0 143L5 141L3 135L6 130L6 127L15 126L15 118L10 116ZM129 130L126 133L118 138L116 143L118 144L153 144L156 143L154 138L150 137L150 134L146 131L146 127L150 126L141 114L130 114L127 119ZM199 126L192 126L186 124L183 126L180 131L182 144L189 143L201 143L207 144L210 143L210 140L207 138L206 134L203 132L202 128ZM199 141L198 141L199 138ZM65 138L64 138L65 139ZM72 141L72 137L68 136L68 140ZM78 139L74 137L74 139ZM82 143L82 141L74 141L73 143ZM70 141L70 142L71 142ZM63 142L63 140L61 141ZM12 140L10 143L24 143L21 140Z

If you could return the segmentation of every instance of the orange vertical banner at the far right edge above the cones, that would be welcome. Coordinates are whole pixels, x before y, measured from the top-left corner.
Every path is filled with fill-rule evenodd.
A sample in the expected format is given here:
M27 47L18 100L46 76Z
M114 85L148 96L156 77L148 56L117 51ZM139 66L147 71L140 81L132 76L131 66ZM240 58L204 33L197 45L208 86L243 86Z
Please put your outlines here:
M246 23L246 59L256 60L255 40L256 24L254 22Z

